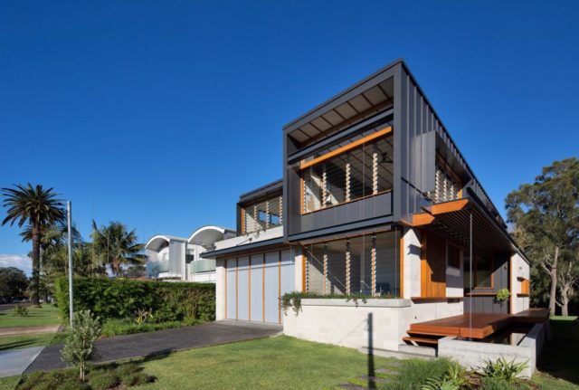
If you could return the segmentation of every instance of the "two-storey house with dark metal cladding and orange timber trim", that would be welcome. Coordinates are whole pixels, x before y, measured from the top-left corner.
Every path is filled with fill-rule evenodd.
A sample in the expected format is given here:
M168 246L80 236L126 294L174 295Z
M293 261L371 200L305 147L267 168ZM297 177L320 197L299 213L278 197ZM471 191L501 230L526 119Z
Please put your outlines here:
M542 326L524 253L402 60L282 137L283 179L241 195L237 236L204 253L216 259L217 319L392 352L440 342L439 354L455 338ZM284 313L292 290L332 299ZM359 293L375 299L339 298Z

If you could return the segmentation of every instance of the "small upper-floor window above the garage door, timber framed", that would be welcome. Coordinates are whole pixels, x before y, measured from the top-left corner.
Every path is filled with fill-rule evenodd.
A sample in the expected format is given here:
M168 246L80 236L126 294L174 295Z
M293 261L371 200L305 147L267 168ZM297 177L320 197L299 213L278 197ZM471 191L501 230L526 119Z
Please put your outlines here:
M243 207L243 233L254 233L281 226L281 207L281 196Z

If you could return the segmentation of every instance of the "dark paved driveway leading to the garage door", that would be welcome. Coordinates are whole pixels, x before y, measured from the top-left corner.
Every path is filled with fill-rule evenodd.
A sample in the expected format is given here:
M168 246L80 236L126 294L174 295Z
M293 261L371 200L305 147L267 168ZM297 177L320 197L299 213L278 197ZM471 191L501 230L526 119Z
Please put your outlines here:
M252 338L266 338L280 333L279 325L242 321L215 321L195 327L157 330L137 335L101 338L97 341L98 357L95 363L131 357L162 355L180 349L210 347ZM61 359L62 345L44 347L25 373L64 368Z

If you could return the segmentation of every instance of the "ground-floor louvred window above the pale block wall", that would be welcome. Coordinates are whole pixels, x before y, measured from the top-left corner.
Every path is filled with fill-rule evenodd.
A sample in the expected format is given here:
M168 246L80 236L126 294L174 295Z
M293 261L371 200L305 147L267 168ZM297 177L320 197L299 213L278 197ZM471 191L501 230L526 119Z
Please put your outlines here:
M308 292L400 296L397 234L366 234L308 245Z

